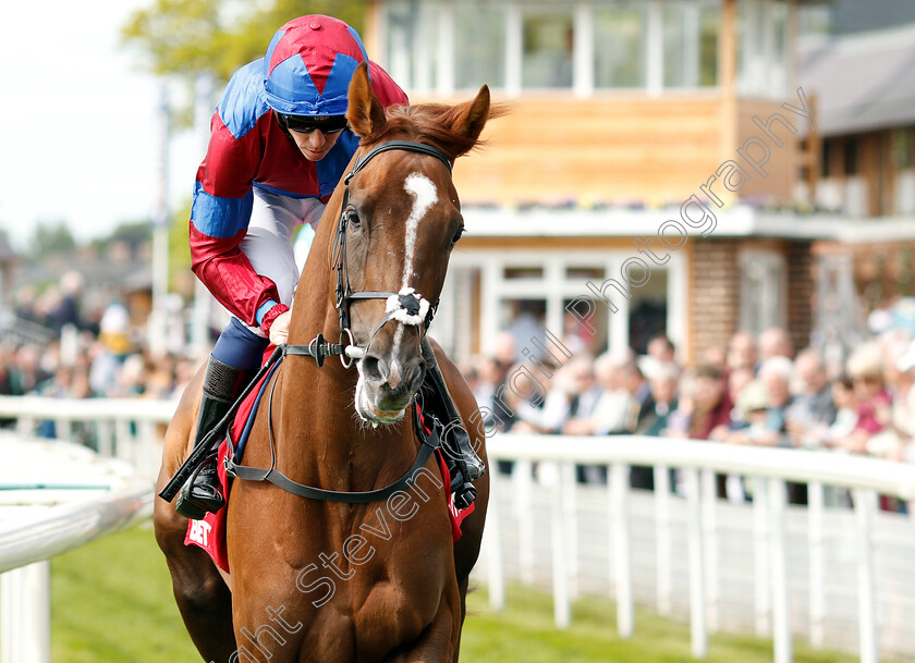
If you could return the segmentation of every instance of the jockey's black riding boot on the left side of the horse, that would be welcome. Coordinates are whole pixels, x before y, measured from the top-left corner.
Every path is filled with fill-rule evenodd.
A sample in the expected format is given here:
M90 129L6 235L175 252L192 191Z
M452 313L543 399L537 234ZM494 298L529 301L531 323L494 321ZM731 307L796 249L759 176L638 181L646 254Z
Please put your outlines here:
M204 442L217 425L225 417L244 384L245 371L223 364L210 355L204 378L204 394L197 415L197 432L194 446ZM221 442L221 431L209 438L213 451ZM187 480L178 495L174 509L187 518L199 520L207 512L216 513L225 504L219 484L216 461L207 459L200 469Z

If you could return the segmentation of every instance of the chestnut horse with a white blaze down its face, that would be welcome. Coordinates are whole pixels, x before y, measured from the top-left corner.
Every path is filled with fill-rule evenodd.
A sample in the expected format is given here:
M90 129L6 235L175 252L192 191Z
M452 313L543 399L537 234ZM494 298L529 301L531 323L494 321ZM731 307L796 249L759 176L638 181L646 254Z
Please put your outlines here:
M346 114L359 150L327 205L292 307L289 347L306 356L286 356L270 378L269 406L255 415L244 464L338 494L382 494L392 483L401 490L388 490L387 500L349 503L235 479L227 515L231 574L202 549L184 545L187 519L157 500L156 540L205 661L457 661L488 474L475 483L475 511L456 542L435 457L414 472L415 483L398 483L411 463L423 461L414 420L426 366L420 340L430 320L426 312L422 323L407 323L418 311L406 309L413 303L435 310L429 303L438 300L463 232L451 164L478 145L487 120L500 113L487 86L455 106L386 113L366 65L353 75ZM320 348L333 346L325 337L340 337L338 352L345 345L349 356L324 361ZM473 393L431 345L488 465ZM191 452L202 382L199 372L168 428L157 489Z

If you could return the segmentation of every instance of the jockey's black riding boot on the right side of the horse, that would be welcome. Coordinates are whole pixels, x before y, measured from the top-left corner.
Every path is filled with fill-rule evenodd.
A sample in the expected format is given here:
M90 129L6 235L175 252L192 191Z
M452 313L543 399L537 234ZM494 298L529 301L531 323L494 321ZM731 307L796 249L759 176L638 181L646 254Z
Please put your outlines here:
M476 499L473 481L483 476L486 466L471 444L471 438L464 430L463 419L448 391L444 377L441 375L436 355L427 339L423 339L422 348L423 358L426 360L424 385L429 388L423 392L423 404L444 429L442 452L451 472L451 492L454 493L454 505L457 508L464 508Z

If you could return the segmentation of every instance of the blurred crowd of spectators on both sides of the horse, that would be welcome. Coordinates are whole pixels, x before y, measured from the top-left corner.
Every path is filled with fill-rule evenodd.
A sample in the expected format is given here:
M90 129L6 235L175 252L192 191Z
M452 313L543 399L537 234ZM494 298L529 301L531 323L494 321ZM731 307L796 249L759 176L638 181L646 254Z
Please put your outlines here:
M52 340L0 340L0 394L178 398L205 353L152 354L118 302L86 321L78 286L64 279L44 306L19 311L49 327ZM510 332L500 333L493 348L461 367L490 429L683 438L915 462L915 340L906 331L883 332L838 364L813 347L795 352L783 329L737 332L687 366L663 334L650 339L644 355L623 348L595 357L570 337L520 348ZM578 475L606 480L599 468ZM719 494L747 499L747 487L732 479L719 477ZM651 469L633 468L631 483L651 489ZM792 502L805 502L803 486L790 489Z

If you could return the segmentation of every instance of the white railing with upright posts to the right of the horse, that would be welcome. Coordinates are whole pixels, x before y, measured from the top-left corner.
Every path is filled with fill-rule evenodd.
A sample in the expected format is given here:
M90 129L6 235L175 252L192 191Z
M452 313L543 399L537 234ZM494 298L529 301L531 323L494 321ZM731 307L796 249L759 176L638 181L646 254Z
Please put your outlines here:
M670 614L674 569L688 575L688 616L692 651L695 658L708 654L708 634L718 628L722 616L719 569L725 563L727 552L721 550L720 523L722 508L742 508L737 521L746 523L747 537L752 538L752 556L745 560L749 567L751 592L757 633L771 633L774 660L788 663L793 658L792 625L798 610L791 603L789 582L790 555L786 532L785 481L808 486L808 506L802 523L806 526L808 601L806 622L812 644L822 647L827 597L827 538L825 536L825 487L847 489L853 496L857 542L856 601L857 640L862 662L877 663L878 606L875 578L875 518L878 494L901 500L915 499L915 467L884 461L840 455L830 452L810 452L786 449L730 446L690 440L669 440L646 437L572 438L544 435L496 435L488 441L491 461L514 462L512 478L507 480L493 471L492 499L487 517L486 567L490 602L493 607L504 605L505 569L517 569L522 581L533 576L532 551L535 548L535 515L532 498L535 490L532 465L538 464L541 476L549 477L544 486L549 521L551 584L557 626L564 628L571 621L571 600L581 581L580 538L583 528L577 524L584 517L578 502L587 487L576 483L574 465L606 466L609 490L591 490L591 501L603 500L607 518L603 558L612 560L609 576L615 587L617 621L621 637L629 638L634 629L634 588L631 509L644 506L650 500L648 518L654 521L654 564L656 605L661 614ZM493 463L495 465L495 463ZM655 492L631 491L629 467L654 467ZM670 469L676 468L683 479L683 496L671 492ZM716 474L744 477L756 496L753 504L742 507L728 505L716 495ZM638 493L638 494L635 494ZM603 496L595 498L596 494ZM511 515L500 514L511 504ZM542 504L541 504L542 506ZM793 507L792 507L793 508ZM517 564L505 560L505 540L510 532L517 541ZM684 551L674 549L673 535L685 524ZM546 525L546 523L544 523ZM915 543L915 524L905 521L907 536ZM795 537L796 539L796 537ZM594 542L591 542L591 548ZM685 556L685 563L683 557ZM737 560L737 563L743 560ZM679 568L678 568L679 567ZM526 577L525 577L526 576ZM642 592L643 594L645 592ZM803 615L803 612L801 612ZM908 642L910 648L915 643Z

